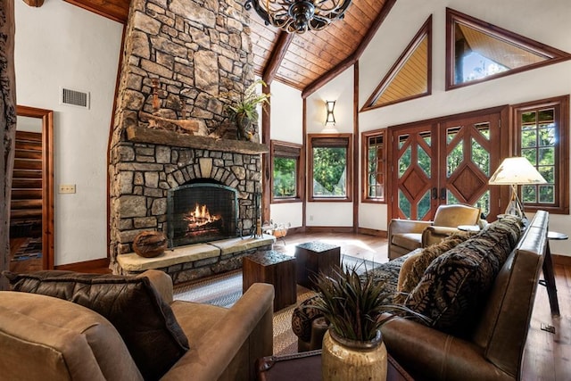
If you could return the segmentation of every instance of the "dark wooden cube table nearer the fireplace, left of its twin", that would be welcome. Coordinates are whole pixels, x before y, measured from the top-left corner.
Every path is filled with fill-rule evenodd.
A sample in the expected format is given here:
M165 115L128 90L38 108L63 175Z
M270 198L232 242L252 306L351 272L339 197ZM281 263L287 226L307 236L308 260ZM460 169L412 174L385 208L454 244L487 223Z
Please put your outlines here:
M243 292L254 283L269 283L274 286L274 311L294 304L297 302L295 261L294 257L274 250L245 256L242 262Z

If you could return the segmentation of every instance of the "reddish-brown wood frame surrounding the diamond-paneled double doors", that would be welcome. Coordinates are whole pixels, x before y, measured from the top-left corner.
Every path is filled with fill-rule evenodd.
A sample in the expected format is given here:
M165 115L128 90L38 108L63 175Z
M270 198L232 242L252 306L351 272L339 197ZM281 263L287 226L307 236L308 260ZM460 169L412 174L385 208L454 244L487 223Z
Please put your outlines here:
M387 189L391 189L391 193L393 194L393 170L396 168L397 166L397 162L394 162L394 142L393 142L393 133L395 131L399 131L402 129L406 129L406 128L420 128L420 127L426 127L427 125L431 125L433 127L433 131L435 132L435 137L438 138L438 134L441 134L441 127L446 123L446 122L452 122L452 121L456 121L456 120L461 120L461 119L471 119L471 118L475 118L477 116L481 116L481 115L487 115L487 114L493 114L493 113L497 113L500 115L500 142L498 142L497 144L500 145L498 147L498 153L499 153L499 157L503 158L503 157L507 157L510 155L510 153L513 153L514 151L514 145L515 142L513 140L513 131L512 128L510 127L512 125L511 122L511 115L510 115L510 107L509 104L502 104L501 106L496 106L496 107L490 107L487 109L482 109L482 110L476 110L476 111L472 111L472 112L460 112L457 114L452 114L452 115L447 115L447 116L443 116L443 117L436 117L436 118L432 118L432 119L428 119L428 120L418 120L418 121L414 121L414 122L410 122L410 123L405 123L405 124L401 124L401 125L396 125L396 126L389 126L387 128L387 132L388 132L388 137L390 137L391 141L390 144L387 146L387 169L389 170L389 176L387 177L387 181L389 182L389 184L387 185ZM438 143L440 144L440 143ZM438 148L440 149L440 148ZM495 170L495 168L492 168L492 172L493 170ZM503 189L506 188L506 189ZM501 195L501 201L504 200L507 202L507 200L509 199L509 187L508 186L501 186L500 189L500 195ZM393 197L395 195L392 195ZM394 200L394 198L393 198ZM433 200L434 201L434 200ZM438 200L436 200L438 201ZM391 221L391 219L393 219L393 203L389 202L390 205L387 208L387 223L389 223ZM501 205L503 205L504 203L499 203L499 207L501 208ZM492 208L493 210L493 208ZM434 217L434 216L433 216ZM495 216L491 216L495 219Z

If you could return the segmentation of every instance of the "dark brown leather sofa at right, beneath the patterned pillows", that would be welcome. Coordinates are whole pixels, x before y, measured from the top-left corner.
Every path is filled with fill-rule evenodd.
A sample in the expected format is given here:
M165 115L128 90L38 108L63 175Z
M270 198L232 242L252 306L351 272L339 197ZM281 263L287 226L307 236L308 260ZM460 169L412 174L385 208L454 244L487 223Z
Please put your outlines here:
M525 339L548 244L548 219L549 213L537 211L525 228L493 280L469 335L453 335L412 319L394 317L381 327L393 358L421 380L520 379ZM389 261L385 273L393 275L392 267L403 261L405 257ZM308 342L298 346L318 349L325 330L323 319L313 318Z

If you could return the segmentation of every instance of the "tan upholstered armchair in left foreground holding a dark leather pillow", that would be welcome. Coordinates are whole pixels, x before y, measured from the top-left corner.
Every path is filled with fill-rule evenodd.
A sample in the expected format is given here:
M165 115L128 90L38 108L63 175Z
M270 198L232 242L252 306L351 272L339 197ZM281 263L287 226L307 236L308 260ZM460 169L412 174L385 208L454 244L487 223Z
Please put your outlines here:
M254 284L230 309L174 301L172 281L148 270L190 349L161 379L250 380L273 352L273 286ZM156 348L156 353L161 352ZM142 380L121 335L95 311L43 294L0 292L0 378Z

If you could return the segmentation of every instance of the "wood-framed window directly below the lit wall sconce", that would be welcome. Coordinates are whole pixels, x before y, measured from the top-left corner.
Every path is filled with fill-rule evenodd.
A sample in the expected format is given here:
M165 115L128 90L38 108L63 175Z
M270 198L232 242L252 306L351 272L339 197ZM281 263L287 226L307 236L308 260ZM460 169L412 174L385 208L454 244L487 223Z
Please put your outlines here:
M310 201L352 200L352 135L309 135Z

